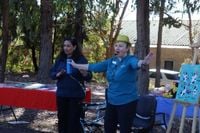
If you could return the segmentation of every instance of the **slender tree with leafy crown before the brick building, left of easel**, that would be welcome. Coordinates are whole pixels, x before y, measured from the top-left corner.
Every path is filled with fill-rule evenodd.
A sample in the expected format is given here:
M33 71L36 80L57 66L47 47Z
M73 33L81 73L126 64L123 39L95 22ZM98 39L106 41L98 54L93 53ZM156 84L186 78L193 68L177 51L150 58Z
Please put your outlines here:
M179 28L181 21L173 18L168 12L172 10L176 1L174 0L151 0L150 1L150 13L159 14L158 25L158 40L156 49L156 80L155 87L160 87L160 68L161 68L161 45L162 45L162 29L163 26L168 25L170 27ZM165 16L164 16L165 15Z

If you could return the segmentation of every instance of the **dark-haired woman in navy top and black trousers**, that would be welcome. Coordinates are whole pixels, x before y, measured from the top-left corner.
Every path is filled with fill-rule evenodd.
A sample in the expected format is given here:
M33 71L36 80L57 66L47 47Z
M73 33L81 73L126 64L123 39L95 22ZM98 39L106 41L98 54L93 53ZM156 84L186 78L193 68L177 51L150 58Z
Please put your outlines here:
M80 64L86 64L87 59L80 51L76 39L67 38L63 49L50 70L53 80L57 80L57 110L59 133L80 133L81 103L85 92L82 84L89 81L92 74L89 71L71 69L66 73L66 60L73 59Z

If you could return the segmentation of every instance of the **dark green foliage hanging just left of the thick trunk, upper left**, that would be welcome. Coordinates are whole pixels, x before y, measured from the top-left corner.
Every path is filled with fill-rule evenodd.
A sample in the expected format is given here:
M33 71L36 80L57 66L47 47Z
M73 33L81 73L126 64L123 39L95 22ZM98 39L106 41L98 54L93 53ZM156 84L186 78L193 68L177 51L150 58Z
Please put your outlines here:
M38 47L40 40L40 9L36 0L21 1L19 4L18 25L21 30L21 39L25 42L27 48Z

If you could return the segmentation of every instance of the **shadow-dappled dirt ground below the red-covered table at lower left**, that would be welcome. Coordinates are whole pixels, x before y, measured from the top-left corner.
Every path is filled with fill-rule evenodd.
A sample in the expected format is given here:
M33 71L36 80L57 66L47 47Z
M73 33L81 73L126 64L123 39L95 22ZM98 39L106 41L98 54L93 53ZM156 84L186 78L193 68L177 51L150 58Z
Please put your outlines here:
M0 117L2 133L56 133L56 112L15 108L19 124L9 124L15 119L11 111L4 111ZM21 123L20 123L21 122Z

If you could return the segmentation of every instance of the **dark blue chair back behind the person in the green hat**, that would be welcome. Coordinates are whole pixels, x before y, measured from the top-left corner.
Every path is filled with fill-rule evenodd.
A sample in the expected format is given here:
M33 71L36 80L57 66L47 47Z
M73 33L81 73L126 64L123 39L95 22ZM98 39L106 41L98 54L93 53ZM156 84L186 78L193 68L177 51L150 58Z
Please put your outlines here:
M136 115L133 119L133 131L149 133L152 131L155 123L157 101L154 96L140 96Z

